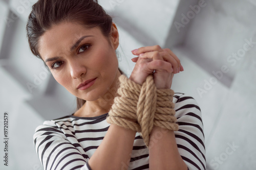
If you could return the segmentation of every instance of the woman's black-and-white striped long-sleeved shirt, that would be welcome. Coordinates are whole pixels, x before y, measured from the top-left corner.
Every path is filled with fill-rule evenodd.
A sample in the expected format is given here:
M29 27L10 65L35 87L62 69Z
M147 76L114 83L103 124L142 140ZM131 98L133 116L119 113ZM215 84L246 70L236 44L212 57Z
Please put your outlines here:
M206 169L205 146L201 111L197 102L188 95L175 93L176 117L179 131L175 132L179 153L188 169ZM90 169L87 164L110 124L108 113L97 117L68 115L45 121L36 128L34 144L44 169ZM148 149L136 133L128 169L148 169Z

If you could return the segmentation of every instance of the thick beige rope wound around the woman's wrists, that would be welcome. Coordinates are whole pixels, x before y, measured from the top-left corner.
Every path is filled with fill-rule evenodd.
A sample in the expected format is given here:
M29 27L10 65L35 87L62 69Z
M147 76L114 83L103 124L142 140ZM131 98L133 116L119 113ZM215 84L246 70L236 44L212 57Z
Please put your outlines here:
M142 86L124 75L119 77L119 81L119 96L106 118L108 123L141 132L147 147L153 126L173 131L179 129L174 116L173 90L156 89L152 75Z

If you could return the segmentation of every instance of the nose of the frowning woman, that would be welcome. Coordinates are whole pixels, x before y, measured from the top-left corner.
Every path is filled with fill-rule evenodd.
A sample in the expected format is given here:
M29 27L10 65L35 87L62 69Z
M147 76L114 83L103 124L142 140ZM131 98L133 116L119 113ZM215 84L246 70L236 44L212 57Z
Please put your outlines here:
M73 79L79 79L87 72L86 66L80 61L70 62L70 75Z

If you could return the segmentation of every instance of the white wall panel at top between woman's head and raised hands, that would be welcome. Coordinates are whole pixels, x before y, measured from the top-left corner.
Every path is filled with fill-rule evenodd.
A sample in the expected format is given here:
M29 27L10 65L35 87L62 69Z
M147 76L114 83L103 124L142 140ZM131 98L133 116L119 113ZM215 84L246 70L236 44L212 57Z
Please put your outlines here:
M128 31L139 42L144 45L160 46L164 45L179 2L179 0L99 1L114 17L117 25Z

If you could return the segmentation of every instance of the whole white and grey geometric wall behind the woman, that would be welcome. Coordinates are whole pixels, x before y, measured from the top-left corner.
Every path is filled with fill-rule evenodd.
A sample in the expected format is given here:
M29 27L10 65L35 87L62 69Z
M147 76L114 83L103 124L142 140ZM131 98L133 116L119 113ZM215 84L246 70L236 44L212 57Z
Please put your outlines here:
M29 51L25 26L34 2L0 0L0 131L3 132L3 113L7 111L8 169L41 169L33 146L35 128L46 119L75 110L74 96L58 85L43 68L44 64ZM190 16L189 23L182 23L185 21L182 14L192 14L189 6L198 2L202 6L200 11ZM119 64L128 76L134 66L131 51L141 46L159 44L181 59L185 71L175 76L172 89L193 96L201 107L207 169L255 169L256 44L242 57L228 58L243 52L245 39L256 41L256 0L100 0L99 3L117 23ZM6 18L12 19L9 27ZM179 29L175 27L177 22L183 25ZM223 65L229 70L218 82L214 81L217 78L212 71L221 71ZM33 84L36 77L41 77L41 81L36 88L29 89L27 84ZM207 86L206 82L216 84ZM199 89L205 91L200 93ZM2 140L1 134L0 155ZM237 148L230 148L230 144ZM7 169L2 163L0 168Z

